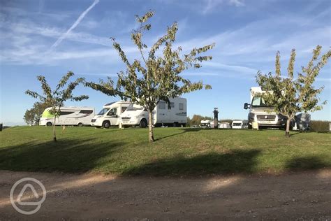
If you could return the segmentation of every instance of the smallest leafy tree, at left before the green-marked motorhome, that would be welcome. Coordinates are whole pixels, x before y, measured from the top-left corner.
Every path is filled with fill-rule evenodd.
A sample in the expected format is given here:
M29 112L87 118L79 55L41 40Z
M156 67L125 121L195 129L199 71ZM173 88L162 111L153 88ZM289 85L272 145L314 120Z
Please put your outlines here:
M82 101L84 99L88 99L89 97L87 95L81 95L78 97L73 96L73 90L77 85L83 82L83 78L78 78L75 81L68 83L69 78L71 78L74 75L73 72L69 71L66 73L65 76L61 78L59 81L59 84L57 87L52 90L50 88L50 85L47 84L47 81L44 76L37 76L37 79L41 82L41 88L43 90L43 95L38 94L38 92L31 92L30 90L27 90L25 94L30 95L31 97L34 97L36 99L39 99L42 103L50 104L50 107L52 109L50 110L50 113L54 115L54 123L53 123L53 138L54 141L57 141L57 137L55 134L55 120L59 116L61 107L64 106L64 102L67 100L71 101ZM68 83L68 85L67 85ZM66 88L64 88L67 85ZM63 90L61 90L64 88Z

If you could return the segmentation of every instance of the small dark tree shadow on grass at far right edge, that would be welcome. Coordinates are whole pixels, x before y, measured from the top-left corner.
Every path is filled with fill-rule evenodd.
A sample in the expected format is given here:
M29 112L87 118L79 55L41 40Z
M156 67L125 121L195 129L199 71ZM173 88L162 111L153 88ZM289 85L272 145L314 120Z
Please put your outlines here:
M295 157L290 159L286 163L286 169L288 171L300 171L300 170L311 170L311 169L323 169L331 168L331 163L327 164L323 162L320 157Z

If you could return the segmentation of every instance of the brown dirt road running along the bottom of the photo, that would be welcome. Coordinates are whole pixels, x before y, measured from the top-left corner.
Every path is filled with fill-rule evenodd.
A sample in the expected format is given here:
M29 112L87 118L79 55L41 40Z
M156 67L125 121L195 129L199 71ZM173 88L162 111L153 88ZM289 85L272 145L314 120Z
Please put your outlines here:
M47 191L41 209L34 215L17 213L10 204L11 187L25 177L40 180ZM13 199L17 199L23 185L17 185L14 191L16 198ZM38 194L42 195L39 189L36 187ZM38 200L32 191L26 191L22 201ZM33 207L36 208L20 208L31 211ZM115 178L91 173L72 175L0 171L0 220L17 218L331 220L331 170L279 176L212 178Z

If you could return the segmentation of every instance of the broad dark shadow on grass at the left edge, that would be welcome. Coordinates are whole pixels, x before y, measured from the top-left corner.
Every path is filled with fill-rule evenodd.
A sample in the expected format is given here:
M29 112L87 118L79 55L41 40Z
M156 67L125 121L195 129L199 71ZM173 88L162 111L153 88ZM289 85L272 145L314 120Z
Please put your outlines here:
M24 143L0 149L0 169L10 171L86 172L98 161L125 145L89 139L61 139L57 142Z

